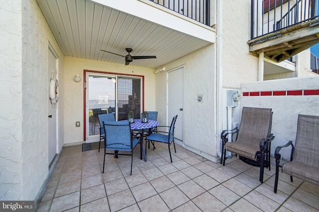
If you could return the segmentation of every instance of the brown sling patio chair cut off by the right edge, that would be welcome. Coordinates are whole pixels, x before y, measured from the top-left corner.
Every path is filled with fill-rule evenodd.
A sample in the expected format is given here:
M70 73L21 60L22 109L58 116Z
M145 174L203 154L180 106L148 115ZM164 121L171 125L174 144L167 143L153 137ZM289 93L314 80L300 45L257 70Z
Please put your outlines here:
M281 154L279 152L281 148L290 145L292 147L290 162L280 165ZM282 167L282 173L290 175L291 182L293 182L293 177L297 177L319 186L319 116L299 114L295 145L293 141L289 141L285 145L277 146L275 158L275 193L278 187L279 167Z

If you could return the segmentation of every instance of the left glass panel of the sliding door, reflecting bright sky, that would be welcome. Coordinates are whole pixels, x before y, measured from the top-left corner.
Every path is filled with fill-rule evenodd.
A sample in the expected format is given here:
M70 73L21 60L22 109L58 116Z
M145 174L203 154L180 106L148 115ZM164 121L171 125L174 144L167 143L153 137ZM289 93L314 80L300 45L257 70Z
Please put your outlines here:
M116 112L115 88L116 78L89 75L88 79L88 124L89 136L100 135L99 114Z

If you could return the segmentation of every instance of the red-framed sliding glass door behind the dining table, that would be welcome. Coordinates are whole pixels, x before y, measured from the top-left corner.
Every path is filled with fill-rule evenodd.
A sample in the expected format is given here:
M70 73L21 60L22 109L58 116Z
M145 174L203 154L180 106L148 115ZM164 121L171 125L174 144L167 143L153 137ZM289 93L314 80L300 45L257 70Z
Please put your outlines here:
M99 114L112 113L116 121L126 120L132 111L139 119L142 113L142 78L100 72L86 73L87 142L99 141Z

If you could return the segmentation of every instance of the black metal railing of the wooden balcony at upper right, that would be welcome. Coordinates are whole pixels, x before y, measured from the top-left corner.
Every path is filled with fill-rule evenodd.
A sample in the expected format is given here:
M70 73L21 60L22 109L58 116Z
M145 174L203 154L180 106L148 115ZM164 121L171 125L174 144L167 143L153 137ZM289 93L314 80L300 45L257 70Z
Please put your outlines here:
M318 0L251 0L251 39L318 17Z

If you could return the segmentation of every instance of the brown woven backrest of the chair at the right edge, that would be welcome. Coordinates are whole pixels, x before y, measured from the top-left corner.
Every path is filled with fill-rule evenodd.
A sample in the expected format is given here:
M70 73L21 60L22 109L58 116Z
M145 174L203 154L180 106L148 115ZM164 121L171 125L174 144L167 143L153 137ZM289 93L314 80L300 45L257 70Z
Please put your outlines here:
M293 161L319 168L319 116L298 115Z

